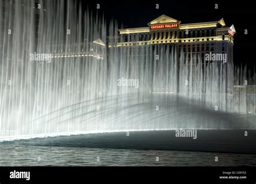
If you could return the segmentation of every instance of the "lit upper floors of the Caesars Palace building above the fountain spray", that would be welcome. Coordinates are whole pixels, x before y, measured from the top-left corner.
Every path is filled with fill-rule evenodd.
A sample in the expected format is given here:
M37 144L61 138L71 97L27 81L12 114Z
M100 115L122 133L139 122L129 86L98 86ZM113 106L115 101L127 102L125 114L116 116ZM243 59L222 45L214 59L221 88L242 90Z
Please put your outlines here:
M233 61L234 26L227 26L221 18L215 22L181 24L179 20L162 15L147 27L120 29L118 43L111 46L147 46L171 44L184 59L199 57L204 61L207 53L226 54Z

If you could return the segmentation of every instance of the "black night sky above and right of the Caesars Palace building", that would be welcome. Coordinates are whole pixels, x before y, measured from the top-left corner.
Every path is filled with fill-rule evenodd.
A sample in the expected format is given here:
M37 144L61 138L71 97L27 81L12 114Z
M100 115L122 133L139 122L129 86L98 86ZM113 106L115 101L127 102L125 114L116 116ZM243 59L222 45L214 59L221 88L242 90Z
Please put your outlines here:
M180 20L181 23L211 22L224 18L226 25L234 24L237 33L234 36L234 62L246 64L248 68L255 65L256 8L252 2L235 1L82 1L84 9L104 13L107 20L116 19L123 28L146 27L147 23L162 14ZM156 9L159 4L159 9ZM214 5L218 4L218 9ZM244 34L244 30L248 34Z

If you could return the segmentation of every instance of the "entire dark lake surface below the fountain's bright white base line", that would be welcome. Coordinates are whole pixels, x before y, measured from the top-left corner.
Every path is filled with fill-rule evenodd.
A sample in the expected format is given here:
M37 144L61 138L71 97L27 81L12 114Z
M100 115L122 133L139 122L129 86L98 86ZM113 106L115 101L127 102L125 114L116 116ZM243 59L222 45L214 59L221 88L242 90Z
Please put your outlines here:
M243 144L240 133L204 130L197 140L147 131L3 141L0 166L256 166L255 140Z

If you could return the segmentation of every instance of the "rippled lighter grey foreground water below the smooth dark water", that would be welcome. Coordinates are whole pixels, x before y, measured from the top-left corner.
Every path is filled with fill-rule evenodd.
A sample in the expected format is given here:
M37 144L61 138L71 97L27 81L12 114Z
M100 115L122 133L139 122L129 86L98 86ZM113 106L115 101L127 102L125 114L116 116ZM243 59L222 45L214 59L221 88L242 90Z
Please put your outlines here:
M256 166L253 154L14 144L0 148L0 166Z

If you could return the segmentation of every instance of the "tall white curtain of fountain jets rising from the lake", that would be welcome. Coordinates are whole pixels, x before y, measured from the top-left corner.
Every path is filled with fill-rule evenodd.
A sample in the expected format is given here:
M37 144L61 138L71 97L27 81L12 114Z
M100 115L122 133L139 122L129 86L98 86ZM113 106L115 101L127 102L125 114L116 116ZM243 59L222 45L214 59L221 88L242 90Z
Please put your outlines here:
M71 1L0 7L0 139L256 128L246 87L233 90L246 68L177 60L171 45L117 47L117 23Z

